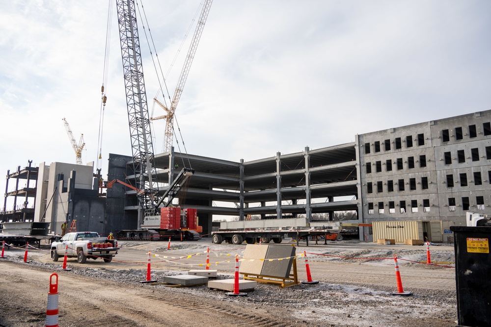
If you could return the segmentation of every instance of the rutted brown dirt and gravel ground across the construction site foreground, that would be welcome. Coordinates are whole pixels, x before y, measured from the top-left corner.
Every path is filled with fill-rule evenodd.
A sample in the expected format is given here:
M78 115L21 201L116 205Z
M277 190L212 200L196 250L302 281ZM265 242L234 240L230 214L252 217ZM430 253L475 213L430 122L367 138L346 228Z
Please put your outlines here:
M401 274L405 290L414 293L411 297L390 295L396 290L393 261L359 262L313 254L309 258L310 268L320 284L285 289L259 284L244 298L227 297L222 291L209 290L206 286L169 288L138 283L145 279L146 265L136 262L144 262L146 251L166 254L169 259L170 256L204 253L207 247L217 251L211 262L224 261L226 257L220 254L227 250L242 251L237 250L237 246L208 242L185 242L179 249L166 251L162 243L141 242L123 246L118 254L120 261L129 263L106 264L102 260L90 260L80 265L75 259L69 259L73 270L64 272L57 270L61 262L50 261L47 252L32 252L29 254L31 263L26 264L22 262L23 251L9 250L8 259L0 261L0 325L44 326L49 276L56 272L61 327L108 324L149 327L455 326L455 271L409 262L401 264ZM366 245L305 249L350 257L360 251L365 255L390 256L394 249L405 252L411 259L426 255L421 249L397 246L394 249ZM441 257L451 253L448 249L440 252ZM203 254L195 255L187 258L186 264L196 265L203 260ZM231 278L234 265L222 262L212 268L218 269L219 278ZM164 261L152 265L152 277L184 274L189 269L184 264ZM305 266L299 264L301 280L306 279L304 269Z

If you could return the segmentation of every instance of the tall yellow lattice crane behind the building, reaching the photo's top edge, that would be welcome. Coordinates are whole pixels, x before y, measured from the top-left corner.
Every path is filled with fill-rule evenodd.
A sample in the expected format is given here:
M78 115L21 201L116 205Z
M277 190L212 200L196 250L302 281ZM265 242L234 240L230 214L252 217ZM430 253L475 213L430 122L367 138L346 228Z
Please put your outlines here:
M194 54L196 53L196 49L198 47L199 39L201 38L201 33L203 32L203 28L206 23L206 18L208 17L208 13L210 12L210 7L212 5L213 0L205 0L203 3L203 8L201 9L201 15L199 16L198 24L196 25L196 29L194 30L194 36L191 40L191 45L188 50L188 55L186 56L186 61L184 63L184 67L181 71L181 76L177 82L176 90L174 91L174 98L171 101L170 109L168 109L163 103L154 99L157 104L159 104L167 113L166 115L150 118L150 120L158 120L165 119L165 135L164 135L164 152L169 152L172 149L172 141L174 138L174 113L177 108L177 103L179 99L181 99L181 94L184 90L184 84L186 84L186 79L188 78L189 71L191 69L192 59L194 58ZM170 97L169 97L170 100Z

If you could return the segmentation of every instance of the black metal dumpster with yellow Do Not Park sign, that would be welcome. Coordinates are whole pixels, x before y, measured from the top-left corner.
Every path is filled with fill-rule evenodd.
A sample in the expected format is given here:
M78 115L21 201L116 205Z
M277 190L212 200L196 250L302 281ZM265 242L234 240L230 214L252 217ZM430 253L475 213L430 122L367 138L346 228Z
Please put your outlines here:
M450 226L455 235L459 326L491 326L491 227Z

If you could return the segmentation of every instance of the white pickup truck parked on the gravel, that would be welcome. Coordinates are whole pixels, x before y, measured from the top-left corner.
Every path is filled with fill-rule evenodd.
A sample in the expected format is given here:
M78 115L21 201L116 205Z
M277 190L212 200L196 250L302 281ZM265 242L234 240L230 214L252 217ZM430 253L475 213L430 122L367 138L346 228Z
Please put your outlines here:
M87 258L103 258L104 262L111 262L112 257L118 253L118 242L99 237L95 231L81 231L65 234L59 242L51 244L51 258L58 261L65 255L68 246L67 257L77 258L78 263L85 263Z

